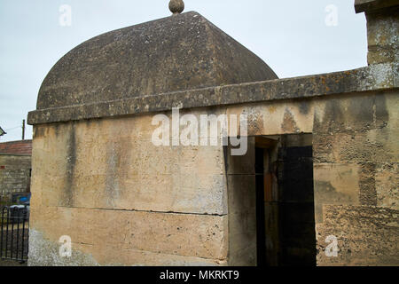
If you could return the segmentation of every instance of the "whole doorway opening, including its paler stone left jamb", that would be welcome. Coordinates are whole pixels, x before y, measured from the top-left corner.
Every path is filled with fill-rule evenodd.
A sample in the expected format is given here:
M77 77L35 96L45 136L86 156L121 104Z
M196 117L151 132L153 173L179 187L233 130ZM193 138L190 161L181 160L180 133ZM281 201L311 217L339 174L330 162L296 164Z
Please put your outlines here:
M224 147L229 264L316 265L312 135L248 137Z

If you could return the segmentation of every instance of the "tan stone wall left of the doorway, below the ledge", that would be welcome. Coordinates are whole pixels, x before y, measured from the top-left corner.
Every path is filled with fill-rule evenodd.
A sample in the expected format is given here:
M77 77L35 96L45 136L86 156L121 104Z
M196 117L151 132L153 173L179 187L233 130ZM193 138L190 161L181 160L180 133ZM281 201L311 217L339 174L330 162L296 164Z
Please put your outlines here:
M152 119L35 126L30 265L227 264L223 147L153 146Z

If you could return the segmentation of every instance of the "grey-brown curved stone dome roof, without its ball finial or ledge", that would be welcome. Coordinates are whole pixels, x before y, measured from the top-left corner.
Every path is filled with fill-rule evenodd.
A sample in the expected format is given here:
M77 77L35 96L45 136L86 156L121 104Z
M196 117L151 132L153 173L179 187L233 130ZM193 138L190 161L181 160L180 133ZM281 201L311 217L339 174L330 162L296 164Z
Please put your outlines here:
M51 68L37 109L278 78L197 12L96 36Z

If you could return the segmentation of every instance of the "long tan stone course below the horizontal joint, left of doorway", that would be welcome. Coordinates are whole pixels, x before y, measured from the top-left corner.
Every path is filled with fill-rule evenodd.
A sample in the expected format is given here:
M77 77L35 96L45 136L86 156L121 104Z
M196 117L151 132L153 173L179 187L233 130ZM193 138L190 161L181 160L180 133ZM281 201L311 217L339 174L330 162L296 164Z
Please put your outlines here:
M176 256L227 258L225 216L61 207L33 207L31 214L32 229L53 242L68 235L73 242L95 249L110 246Z

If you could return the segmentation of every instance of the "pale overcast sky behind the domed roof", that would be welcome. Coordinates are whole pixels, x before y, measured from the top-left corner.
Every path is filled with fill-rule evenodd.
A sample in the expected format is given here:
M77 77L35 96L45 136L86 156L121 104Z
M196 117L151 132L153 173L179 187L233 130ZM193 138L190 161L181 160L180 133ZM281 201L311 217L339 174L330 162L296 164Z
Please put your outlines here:
M354 0L184 3L184 12L200 12L280 78L367 65L366 22ZM70 27L59 25L62 4L72 8ZM337 26L325 24L329 4L338 8ZM18 126L35 110L45 75L67 51L107 31L169 15L168 0L0 0L0 126L8 132L0 142L21 138ZM26 138L32 138L31 126Z

